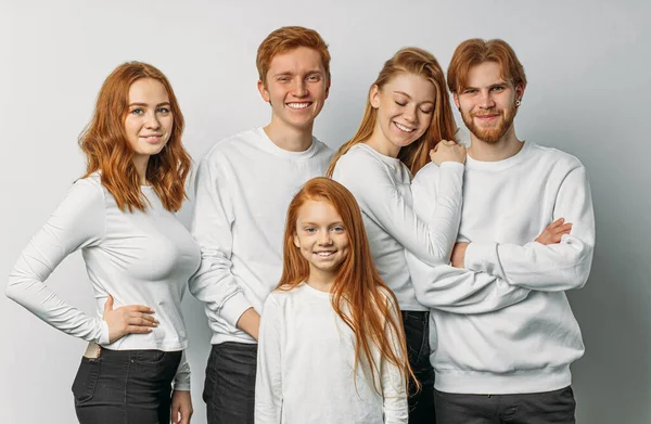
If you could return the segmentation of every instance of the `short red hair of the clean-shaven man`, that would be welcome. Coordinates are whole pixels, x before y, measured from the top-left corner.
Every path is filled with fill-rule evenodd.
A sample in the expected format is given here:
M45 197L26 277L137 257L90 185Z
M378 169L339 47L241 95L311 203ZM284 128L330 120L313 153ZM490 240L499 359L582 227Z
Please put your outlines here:
M258 47L256 66L260 81L266 83L267 72L271 61L278 54L286 53L299 47L316 50L321 56L321 63L326 70L326 78L330 81L330 52L328 44L319 33L302 26L283 26L269 34Z

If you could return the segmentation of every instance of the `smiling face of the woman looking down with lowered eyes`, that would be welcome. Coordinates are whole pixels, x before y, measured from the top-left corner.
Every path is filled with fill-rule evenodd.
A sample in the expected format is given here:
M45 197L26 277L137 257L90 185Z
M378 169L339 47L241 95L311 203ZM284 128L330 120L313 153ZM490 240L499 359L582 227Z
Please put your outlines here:
M435 100L434 85L419 75L400 73L382 88L373 86L371 106L378 111L369 144L378 152L397 157L427 130Z

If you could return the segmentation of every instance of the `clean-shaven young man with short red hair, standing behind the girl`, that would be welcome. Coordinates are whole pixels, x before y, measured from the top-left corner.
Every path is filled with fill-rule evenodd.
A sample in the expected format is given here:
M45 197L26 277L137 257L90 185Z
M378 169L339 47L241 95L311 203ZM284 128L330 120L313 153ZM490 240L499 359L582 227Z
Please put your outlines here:
M271 121L217 143L196 177L192 233L202 266L190 292L213 331L204 400L208 423L254 421L259 313L282 273L288 206L332 152L312 137L330 89L330 53L312 29L282 27L257 53Z

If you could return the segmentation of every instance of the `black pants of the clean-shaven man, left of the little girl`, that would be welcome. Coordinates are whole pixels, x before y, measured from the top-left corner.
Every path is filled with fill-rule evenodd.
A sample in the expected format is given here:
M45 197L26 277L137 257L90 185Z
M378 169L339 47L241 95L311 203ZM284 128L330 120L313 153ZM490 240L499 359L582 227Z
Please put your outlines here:
M208 424L253 424L257 344L213 345L203 399Z

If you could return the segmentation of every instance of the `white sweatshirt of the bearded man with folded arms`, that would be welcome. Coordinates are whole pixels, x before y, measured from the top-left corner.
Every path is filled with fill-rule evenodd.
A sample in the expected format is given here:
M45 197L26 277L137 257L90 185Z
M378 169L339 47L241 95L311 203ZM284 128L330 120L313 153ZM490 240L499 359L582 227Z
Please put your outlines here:
M441 170L425 166L412 185L414 208L434 207ZM558 218L572 222L561 243L534 240ZM406 253L419 300L431 308L435 387L463 394L521 394L571 384L584 352L564 291L589 274L595 218L586 169L556 149L525 142L505 160L468 157L459 241L465 269L432 267Z

